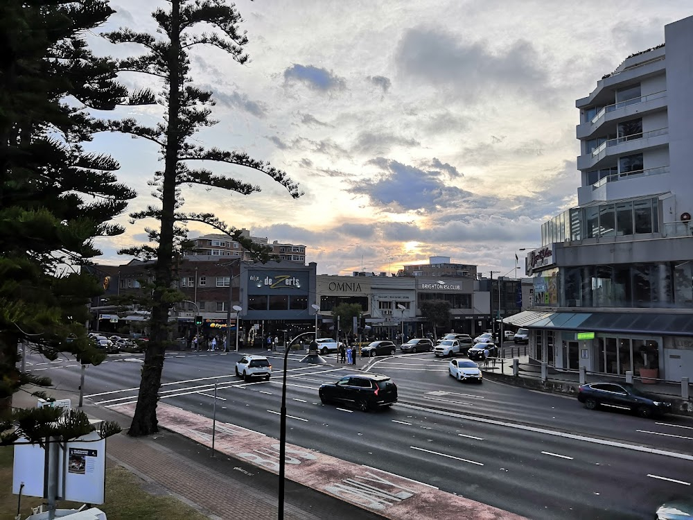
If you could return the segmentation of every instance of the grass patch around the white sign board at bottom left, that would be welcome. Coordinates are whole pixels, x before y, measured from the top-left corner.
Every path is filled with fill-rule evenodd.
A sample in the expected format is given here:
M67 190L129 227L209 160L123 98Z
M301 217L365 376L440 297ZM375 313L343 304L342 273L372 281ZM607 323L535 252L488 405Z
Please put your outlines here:
M14 520L17 512L17 495L12 494L12 447L0 448L0 520ZM142 489L143 480L127 469L111 465L106 469L106 501L97 508L103 510L108 520L205 520L189 505L174 496L152 495ZM44 503L34 496L21 498L21 518L31 514L31 508ZM79 508L82 503L58 501L58 508Z

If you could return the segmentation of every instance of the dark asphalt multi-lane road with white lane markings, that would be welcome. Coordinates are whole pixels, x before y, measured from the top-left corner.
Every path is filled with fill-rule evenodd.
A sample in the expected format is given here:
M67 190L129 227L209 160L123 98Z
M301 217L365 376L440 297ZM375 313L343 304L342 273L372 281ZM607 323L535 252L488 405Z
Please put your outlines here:
M283 358L267 354L272 380L245 383L233 375L237 354L171 352L161 399L211 417L216 382L219 420L277 437ZM693 492L689 418L593 412L563 396L488 380L459 383L448 376L448 361L432 354L373 360L371 372L397 383L399 403L360 413L317 398L320 383L353 369L304 365L302 356L290 354L288 364L292 444L536 519L651 519L660 503ZM135 401L141 357L109 356L89 368L89 401L111 408ZM66 390L78 385L71 361L29 361L28 370Z

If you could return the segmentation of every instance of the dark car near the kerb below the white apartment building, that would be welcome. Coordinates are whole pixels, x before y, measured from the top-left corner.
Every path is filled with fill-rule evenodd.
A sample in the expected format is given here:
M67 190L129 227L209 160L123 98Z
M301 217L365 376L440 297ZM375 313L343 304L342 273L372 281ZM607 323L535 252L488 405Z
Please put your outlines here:
M577 400L588 410L599 406L631 410L640 417L655 417L669 412L672 404L658 395L638 390L627 383L587 383L577 388Z

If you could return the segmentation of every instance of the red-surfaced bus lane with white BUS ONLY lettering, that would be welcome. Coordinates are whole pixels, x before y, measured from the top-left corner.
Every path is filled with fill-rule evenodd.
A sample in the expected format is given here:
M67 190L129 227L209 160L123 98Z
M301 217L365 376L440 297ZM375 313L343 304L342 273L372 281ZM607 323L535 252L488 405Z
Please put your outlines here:
M134 415L134 404L112 408ZM212 420L159 403L159 426L211 447ZM216 423L214 448L233 458L279 473L279 441L228 423ZM468 518L522 520L490 505L450 494L386 471L353 464L311 449L286 444L286 478L336 496L360 508L393 520Z

